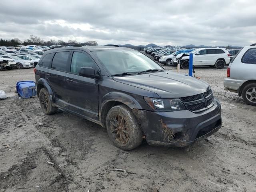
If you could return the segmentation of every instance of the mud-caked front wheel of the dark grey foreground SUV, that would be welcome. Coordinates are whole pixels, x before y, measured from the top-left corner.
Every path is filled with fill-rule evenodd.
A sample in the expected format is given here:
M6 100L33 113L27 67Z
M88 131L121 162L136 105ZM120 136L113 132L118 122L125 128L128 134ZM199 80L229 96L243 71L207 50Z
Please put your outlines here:
M140 124L126 105L117 105L109 110L106 127L110 140L122 150L132 150L143 140Z

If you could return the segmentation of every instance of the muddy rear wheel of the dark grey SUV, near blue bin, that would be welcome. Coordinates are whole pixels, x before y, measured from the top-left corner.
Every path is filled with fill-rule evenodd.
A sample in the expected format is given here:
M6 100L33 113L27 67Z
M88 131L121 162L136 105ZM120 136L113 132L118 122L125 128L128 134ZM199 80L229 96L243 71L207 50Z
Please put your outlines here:
M45 88L42 88L39 92L39 102L40 102L42 111L47 115L54 114L58 110L57 107L52 106L49 93Z

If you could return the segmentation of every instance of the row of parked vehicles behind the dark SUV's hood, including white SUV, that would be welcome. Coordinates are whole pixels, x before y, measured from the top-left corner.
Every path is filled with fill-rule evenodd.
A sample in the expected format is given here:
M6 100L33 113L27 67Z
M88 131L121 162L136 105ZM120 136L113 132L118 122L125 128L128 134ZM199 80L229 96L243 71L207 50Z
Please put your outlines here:
M199 49L178 49L169 47L148 47L144 51L150 54L154 60L164 65L178 65L182 69L188 69L189 54L193 54L194 66L215 66L218 69L224 68L239 50L226 50L224 48L199 48Z

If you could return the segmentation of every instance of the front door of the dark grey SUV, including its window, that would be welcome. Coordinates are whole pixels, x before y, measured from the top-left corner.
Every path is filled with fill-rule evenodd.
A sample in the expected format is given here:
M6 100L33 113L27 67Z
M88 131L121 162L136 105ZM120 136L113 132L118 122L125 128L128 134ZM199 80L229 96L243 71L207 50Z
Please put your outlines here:
M69 110L87 118L98 120L98 80L79 76L81 67L98 66L90 55L84 51L72 52L70 73L66 76Z

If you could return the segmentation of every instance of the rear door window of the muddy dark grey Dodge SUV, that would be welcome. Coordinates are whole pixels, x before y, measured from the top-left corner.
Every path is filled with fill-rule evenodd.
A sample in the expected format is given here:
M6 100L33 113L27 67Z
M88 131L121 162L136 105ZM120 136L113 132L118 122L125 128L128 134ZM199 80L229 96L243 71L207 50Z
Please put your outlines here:
M68 64L68 56L70 52L56 52L52 60L52 68L56 70L66 71Z

